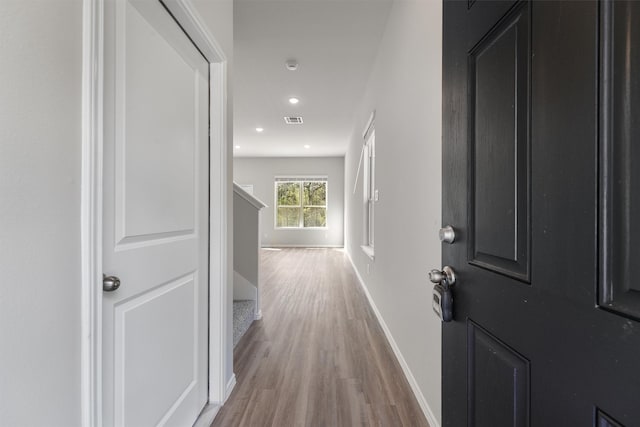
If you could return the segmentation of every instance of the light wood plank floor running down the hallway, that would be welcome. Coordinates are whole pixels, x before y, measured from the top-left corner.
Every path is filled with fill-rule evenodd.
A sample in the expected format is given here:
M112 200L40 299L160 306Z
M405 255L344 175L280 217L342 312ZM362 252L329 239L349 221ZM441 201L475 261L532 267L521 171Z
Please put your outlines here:
M342 251L263 250L262 277L212 426L428 426Z

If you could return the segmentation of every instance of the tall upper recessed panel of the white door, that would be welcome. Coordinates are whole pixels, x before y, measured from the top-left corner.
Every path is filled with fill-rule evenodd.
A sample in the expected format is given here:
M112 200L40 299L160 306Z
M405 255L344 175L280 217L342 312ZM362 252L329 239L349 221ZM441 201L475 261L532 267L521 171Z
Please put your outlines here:
M149 0L135 4L147 6L143 11L150 9ZM149 14L165 23L166 17L157 16L156 8L153 12ZM158 33L169 33L170 40L186 39L175 23L175 28L154 27L129 2L120 13L125 15L119 16L117 31L118 242L190 234L196 224L196 103L207 64L188 40L171 44ZM188 62L186 55L191 59ZM200 57L203 69L194 67L199 64L193 57Z

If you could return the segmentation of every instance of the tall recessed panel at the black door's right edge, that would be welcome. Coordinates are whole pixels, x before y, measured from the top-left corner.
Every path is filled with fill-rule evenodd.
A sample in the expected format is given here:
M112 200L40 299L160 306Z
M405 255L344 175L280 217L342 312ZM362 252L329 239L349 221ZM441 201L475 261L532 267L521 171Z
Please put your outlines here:
M598 302L640 319L640 2L601 11L602 243Z

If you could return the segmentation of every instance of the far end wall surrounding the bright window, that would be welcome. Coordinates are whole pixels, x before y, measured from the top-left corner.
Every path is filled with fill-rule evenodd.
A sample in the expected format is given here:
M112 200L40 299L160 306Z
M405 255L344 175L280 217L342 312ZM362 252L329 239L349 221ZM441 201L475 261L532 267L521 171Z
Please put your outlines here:
M276 176L327 176L327 229L276 229L274 223ZM342 157L236 157L234 180L253 184L253 195L267 204L262 210L262 246L343 246L344 158Z

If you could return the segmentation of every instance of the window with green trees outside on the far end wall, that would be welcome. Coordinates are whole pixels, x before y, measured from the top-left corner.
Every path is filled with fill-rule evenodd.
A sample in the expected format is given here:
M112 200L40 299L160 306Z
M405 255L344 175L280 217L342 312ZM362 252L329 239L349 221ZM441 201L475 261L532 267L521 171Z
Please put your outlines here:
M327 178L276 178L276 228L325 228Z

